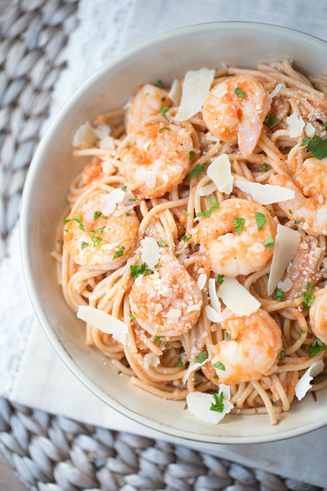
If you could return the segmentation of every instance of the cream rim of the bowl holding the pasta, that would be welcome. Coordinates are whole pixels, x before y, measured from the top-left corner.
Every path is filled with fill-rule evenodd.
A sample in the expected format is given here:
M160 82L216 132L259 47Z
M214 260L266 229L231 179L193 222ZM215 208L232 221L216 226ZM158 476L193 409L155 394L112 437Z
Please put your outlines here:
M265 33L270 34L288 34L292 35L295 38L300 38L304 42L309 41L310 43L314 42L319 47L327 47L327 41L323 39L311 35L303 33L297 29L277 26L274 24L266 24L259 22L247 22L247 21L218 21L218 22L208 22L195 24L187 27L181 27L177 29L172 29L166 31L164 33L153 36L149 39L146 39L140 43L137 43L131 48L124 50L122 53L114 56L112 59L104 63L98 70L96 70L93 74L91 74L82 84L75 90L75 92L69 97L69 99L65 102L65 104L61 107L61 109L55 114L52 118L47 131L42 137L41 141L38 144L37 150L33 156L31 164L28 169L28 173L25 180L22 201L21 201L21 209L20 209L20 220L19 220L19 240L20 240L20 254L21 261L23 267L23 275L25 279L25 284L27 287L27 292L29 299L32 303L34 312L36 317L43 328L47 338L49 339L52 347L55 352L65 365L69 368L69 370L75 375L75 377L83 383L85 387L87 387L93 394L95 394L102 402L110 406L112 409L118 411L122 415L126 416L130 420L142 424L143 426L150 428L151 430L155 430L159 433L163 433L172 437L180 437L185 440L201 442L201 443L219 443L219 444L244 444L244 443L265 443L272 442L277 440L283 440L286 438L292 438L295 436L304 435L313 430L317 430L319 428L327 425L327 413L325 420L320 420L318 423L312 421L305 425L298 425L291 429L279 430L277 427L277 431L274 434L262 434L260 436L209 436L208 434L201 435L200 433L187 433L185 434L184 430L173 430L169 426L163 425L157 420L153 420L144 415L140 415L139 413L134 412L132 409L122 405L118 400L116 400L111 394L106 393L101 387L91 380L91 378L83 372L81 368L76 364L75 359L68 353L65 346L60 341L56 332L52 328L50 322L48 321L47 315L43 306L39 300L38 289L36 283L34 282L31 259L29 255L29 247L27 246L29 243L28 238L28 222L30 220L30 216L28 211L31 209L31 205L33 202L33 183L38 176L39 170L42 167L42 161L47 153L47 147L52 138L52 134L55 133L57 126L60 121L62 121L65 116L70 112L70 110L75 106L75 103L79 100L79 98L88 92L89 88L98 80L100 80L108 71L112 68L119 66L122 62L124 62L127 58L137 52L141 52L147 47L155 44L157 42L161 43L165 40L172 38L174 36L185 36L191 34L197 34L203 31L204 29L216 30L216 29L234 29L237 30L239 28L248 29L248 30L264 30Z

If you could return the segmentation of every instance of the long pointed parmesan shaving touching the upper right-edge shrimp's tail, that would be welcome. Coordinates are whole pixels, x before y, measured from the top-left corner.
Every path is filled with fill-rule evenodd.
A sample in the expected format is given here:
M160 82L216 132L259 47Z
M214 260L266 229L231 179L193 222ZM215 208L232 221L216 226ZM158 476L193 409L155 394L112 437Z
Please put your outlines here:
M273 186L271 184L252 183L250 181L234 181L234 186L247 194L261 205L278 203L278 201L287 201L293 199L295 191L292 189Z

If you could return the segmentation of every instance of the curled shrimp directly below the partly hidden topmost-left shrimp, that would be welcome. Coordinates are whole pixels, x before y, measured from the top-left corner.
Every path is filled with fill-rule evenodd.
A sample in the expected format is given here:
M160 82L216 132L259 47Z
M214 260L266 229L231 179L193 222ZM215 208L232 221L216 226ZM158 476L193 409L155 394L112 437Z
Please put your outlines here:
M157 198L183 181L190 166L190 151L191 131L175 124L143 125L135 133L135 144L122 150L118 166L128 183L139 182L135 189L139 197ZM147 171L154 177L154 183L145 182Z

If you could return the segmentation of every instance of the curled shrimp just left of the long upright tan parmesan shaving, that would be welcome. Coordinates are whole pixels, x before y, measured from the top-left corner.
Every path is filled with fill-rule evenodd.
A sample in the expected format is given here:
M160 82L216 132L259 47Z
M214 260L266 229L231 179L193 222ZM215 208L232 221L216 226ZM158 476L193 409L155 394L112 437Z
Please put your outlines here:
M264 222L260 230L256 217ZM275 240L276 224L263 206L235 198L223 201L191 233L195 242L207 250L212 271L238 276L260 271L272 257L274 247L264 244L270 237Z

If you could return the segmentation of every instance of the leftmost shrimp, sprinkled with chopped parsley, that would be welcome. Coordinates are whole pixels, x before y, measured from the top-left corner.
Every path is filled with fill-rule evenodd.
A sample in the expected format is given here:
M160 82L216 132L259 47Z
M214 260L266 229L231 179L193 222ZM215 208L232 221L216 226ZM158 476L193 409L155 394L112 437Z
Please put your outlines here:
M130 256L140 222L129 201L128 214L124 212L128 195L121 190L96 190L77 201L64 220L64 244L75 263L111 269Z

